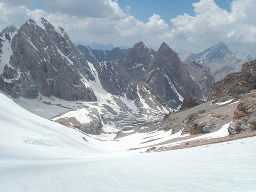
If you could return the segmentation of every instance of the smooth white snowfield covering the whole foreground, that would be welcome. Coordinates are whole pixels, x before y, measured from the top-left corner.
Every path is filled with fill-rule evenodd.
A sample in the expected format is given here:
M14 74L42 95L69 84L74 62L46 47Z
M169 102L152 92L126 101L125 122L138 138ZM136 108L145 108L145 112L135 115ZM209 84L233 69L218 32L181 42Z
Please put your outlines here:
M223 137L226 129L206 137ZM103 141L30 113L0 93L0 191L255 191L255 137L176 151L128 151L146 147L144 140L151 145L156 138L180 137L150 134L115 141L105 134Z

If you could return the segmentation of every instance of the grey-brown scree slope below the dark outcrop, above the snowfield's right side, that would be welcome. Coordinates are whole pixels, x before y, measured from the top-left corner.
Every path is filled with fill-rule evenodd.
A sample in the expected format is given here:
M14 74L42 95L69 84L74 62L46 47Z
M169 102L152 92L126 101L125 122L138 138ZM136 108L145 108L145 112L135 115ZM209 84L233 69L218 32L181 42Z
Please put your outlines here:
M217 105L205 102L187 110L170 113L161 121L159 130L172 130L172 134L182 131L182 135L218 131L223 125L233 121L233 111L237 104Z

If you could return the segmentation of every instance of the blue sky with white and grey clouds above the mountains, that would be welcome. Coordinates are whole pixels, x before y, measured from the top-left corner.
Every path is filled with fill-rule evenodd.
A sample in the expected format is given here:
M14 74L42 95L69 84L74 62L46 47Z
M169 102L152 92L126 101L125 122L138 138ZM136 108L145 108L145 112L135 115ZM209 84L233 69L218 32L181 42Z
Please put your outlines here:
M256 58L256 0L0 0L0 29L44 17L73 41L131 46L165 41L192 52L223 41Z

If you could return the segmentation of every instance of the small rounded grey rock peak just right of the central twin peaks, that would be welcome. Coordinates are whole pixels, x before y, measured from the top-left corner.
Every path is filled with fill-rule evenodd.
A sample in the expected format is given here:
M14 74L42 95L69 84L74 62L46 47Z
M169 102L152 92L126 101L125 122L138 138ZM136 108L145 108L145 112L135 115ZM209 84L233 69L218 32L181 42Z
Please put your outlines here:
M191 78L198 82L202 91L202 96L207 99L212 92L212 87L215 84L214 76L209 67L198 59L189 61L185 64Z

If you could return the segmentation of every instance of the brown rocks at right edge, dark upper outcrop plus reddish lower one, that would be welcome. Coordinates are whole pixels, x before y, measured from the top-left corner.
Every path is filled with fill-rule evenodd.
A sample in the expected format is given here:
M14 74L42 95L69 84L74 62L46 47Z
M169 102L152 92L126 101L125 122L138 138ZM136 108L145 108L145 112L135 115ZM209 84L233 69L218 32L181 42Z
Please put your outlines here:
M256 60L243 64L242 70L230 73L216 82L209 101L230 102L239 100L233 109L233 122L228 127L230 135L256 130Z

